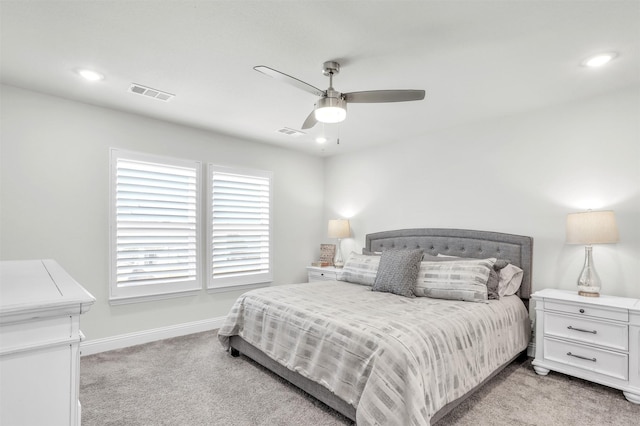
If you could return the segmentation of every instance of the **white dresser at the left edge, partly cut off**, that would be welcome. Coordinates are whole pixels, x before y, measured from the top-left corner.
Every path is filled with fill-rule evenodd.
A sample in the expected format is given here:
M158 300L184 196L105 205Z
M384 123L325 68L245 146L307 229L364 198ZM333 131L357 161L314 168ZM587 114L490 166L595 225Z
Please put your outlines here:
M80 315L94 301L54 260L0 262L0 425L80 424Z

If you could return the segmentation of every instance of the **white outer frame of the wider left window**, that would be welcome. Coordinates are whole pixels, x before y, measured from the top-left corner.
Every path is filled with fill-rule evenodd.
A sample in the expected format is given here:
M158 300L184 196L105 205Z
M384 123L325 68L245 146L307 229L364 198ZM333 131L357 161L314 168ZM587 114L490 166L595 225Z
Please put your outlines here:
M118 160L145 162L163 166L190 168L195 170L195 278L179 282L150 283L132 286L118 285L117 244L117 167ZM138 301L188 296L202 289L202 165L198 161L176 159L139 152L112 148L109 165L109 301L111 304L133 303Z

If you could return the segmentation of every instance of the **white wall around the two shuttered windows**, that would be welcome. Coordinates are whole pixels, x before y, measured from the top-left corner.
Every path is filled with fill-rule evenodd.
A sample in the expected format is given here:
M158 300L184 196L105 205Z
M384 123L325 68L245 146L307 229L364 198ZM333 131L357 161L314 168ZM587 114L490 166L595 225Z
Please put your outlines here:
M227 314L239 291L110 306L109 148L274 173L274 283L306 281L322 238L321 158L0 86L0 259L56 259L97 302L89 340Z

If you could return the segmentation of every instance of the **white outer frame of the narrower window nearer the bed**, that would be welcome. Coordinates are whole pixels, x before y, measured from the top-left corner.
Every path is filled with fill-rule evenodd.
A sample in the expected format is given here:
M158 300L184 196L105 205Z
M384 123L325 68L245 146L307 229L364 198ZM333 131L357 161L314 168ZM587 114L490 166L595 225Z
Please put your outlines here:
M215 173L237 175L248 178L266 179L269 186L268 196L268 270L259 273L215 278L213 277L213 177ZM207 288L209 291L225 291L236 289L238 286L258 287L273 281L273 173L265 170L245 169L236 167L218 166L215 164L208 165L207 173Z

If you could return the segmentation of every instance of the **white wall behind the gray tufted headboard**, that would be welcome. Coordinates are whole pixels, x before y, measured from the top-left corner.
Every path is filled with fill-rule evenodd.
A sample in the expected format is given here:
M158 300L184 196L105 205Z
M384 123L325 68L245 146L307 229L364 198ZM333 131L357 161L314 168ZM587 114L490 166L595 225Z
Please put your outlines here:
M401 228L529 235L534 290L575 289L584 248L564 242L567 213L612 209L620 243L594 247L602 292L640 297L637 86L329 158L324 187L325 219L351 218L346 253Z

